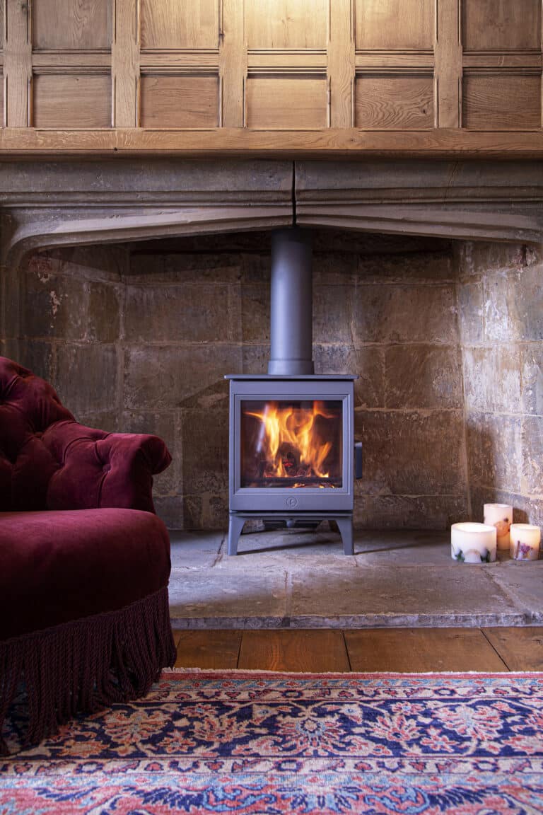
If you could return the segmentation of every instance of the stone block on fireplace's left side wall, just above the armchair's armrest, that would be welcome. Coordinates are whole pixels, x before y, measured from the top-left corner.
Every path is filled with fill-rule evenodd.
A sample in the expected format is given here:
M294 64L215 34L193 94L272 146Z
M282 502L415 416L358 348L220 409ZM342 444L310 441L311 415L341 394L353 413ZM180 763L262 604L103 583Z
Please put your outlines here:
M116 346L59 346L53 384L77 418L118 405L118 368Z

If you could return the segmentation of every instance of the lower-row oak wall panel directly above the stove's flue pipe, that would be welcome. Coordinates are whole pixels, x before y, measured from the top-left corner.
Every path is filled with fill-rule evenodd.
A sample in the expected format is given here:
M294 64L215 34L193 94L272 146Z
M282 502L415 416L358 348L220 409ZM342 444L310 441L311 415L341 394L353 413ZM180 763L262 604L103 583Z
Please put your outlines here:
M326 127L326 79L249 77L247 127L312 130Z

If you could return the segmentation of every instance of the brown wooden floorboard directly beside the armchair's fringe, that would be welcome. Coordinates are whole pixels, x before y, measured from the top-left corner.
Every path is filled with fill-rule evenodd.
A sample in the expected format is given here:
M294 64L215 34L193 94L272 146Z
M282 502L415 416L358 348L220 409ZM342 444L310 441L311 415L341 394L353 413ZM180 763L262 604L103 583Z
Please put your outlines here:
M175 667L227 670L238 667L241 631L174 631Z

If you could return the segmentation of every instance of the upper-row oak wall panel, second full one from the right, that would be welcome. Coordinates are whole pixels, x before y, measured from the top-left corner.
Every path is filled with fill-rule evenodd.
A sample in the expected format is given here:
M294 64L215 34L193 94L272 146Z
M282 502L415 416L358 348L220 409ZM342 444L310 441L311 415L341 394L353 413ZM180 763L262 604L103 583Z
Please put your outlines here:
M431 49L434 0L355 0L355 43L357 49Z

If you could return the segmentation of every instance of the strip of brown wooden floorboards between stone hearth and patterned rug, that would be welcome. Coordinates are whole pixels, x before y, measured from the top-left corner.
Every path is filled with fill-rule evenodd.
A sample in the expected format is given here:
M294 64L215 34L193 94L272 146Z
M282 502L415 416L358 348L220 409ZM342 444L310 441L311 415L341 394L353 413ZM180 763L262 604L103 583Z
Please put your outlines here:
M174 631L176 667L291 672L543 671L543 628Z

